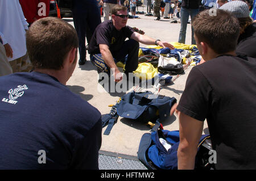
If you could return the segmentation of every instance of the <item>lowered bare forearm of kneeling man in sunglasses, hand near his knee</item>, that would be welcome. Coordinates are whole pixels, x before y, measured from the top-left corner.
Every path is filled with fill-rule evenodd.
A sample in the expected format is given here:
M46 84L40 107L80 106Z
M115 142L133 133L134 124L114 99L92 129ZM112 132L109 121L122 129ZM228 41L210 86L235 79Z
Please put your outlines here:
M122 74L119 71L119 69L117 68L117 65L115 65L115 61L114 58L112 56L112 53L109 50L109 46L105 45L105 44L100 44L100 52L102 55L102 58L104 60L104 62L106 63L106 65L109 66L110 69L114 69L114 80L115 82L119 82L122 80Z

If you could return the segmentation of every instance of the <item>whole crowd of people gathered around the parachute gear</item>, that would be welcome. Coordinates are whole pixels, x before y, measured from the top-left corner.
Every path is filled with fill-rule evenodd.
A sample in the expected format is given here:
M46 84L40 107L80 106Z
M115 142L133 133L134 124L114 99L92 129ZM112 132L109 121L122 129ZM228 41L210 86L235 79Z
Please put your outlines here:
M90 61L115 82L125 81L123 75L127 78L137 69L139 43L174 46L127 26L127 7L119 5L125 1L101 0L101 23L96 0L73 0L75 28L47 17L49 1L34 2L0 1L0 75L5 75L0 77L0 169L98 169L101 113L65 86L77 54L79 65L86 62L85 37ZM158 0L154 3L159 5ZM202 60L191 69L175 104L178 167L194 169L207 120L217 152L215 168L255 169L256 144L251 140L256 138L256 25L250 17L255 2L218 0L214 15L209 1L203 10L200 3L180 3L179 42L185 42L191 16L191 43ZM160 10L154 11L158 18ZM126 56L122 74L116 63Z

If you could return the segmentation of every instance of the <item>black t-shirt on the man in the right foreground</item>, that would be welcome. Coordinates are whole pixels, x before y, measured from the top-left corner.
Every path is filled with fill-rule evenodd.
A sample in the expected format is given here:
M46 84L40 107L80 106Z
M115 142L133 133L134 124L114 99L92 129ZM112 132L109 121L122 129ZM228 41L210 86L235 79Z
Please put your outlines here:
M220 56L192 68L177 110L207 119L216 169L256 168L256 59Z

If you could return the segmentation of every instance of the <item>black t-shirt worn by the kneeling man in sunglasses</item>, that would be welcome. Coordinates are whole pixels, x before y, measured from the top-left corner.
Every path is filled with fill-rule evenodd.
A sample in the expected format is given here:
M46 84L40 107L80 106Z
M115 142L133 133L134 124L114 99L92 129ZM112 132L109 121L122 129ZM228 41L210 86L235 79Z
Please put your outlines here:
M117 31L112 20L105 21L99 24L94 31L88 52L90 54L100 53L99 44L108 45L112 53L117 52L122 47L125 39L130 38L133 32L133 28L129 26L125 26L120 31Z

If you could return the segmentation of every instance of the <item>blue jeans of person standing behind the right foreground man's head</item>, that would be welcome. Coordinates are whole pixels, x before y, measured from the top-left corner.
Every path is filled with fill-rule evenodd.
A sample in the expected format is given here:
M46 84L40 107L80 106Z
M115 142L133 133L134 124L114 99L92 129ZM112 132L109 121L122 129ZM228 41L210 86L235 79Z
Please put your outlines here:
M179 43L185 44L185 38L186 38L186 32L187 32L187 23L189 15L191 16L191 19L194 18L194 16L199 12L199 9L186 9L184 7L181 7L180 10L180 35L179 35ZM196 40L194 38L194 30L191 26L191 44L196 44Z

